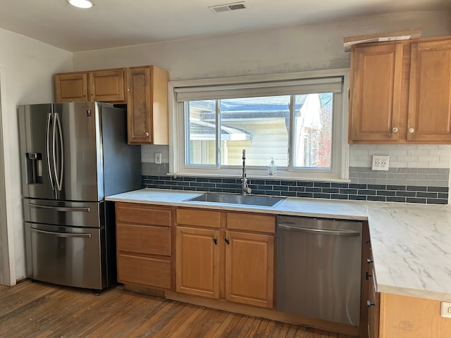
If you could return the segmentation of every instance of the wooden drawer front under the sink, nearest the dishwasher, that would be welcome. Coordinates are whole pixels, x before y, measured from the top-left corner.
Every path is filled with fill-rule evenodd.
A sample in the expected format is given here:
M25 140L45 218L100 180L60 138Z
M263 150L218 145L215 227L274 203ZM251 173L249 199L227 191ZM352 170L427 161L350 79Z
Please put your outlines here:
M257 232L276 232L276 216L252 213L227 213L227 228Z

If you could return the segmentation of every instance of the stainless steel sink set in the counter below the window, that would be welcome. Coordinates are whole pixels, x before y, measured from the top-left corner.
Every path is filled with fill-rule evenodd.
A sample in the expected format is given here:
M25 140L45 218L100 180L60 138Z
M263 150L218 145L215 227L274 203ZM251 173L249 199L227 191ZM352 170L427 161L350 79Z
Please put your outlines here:
M250 195L233 195L233 194L214 194L206 192L205 194L185 199L185 201L201 201L212 203L229 203L229 204L245 204L249 206L277 206L285 200L285 197L268 197L268 196L250 196Z

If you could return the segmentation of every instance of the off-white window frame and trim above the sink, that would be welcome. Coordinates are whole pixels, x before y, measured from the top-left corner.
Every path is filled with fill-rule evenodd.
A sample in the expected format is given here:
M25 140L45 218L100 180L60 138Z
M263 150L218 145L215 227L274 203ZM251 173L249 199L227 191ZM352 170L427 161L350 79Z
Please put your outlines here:
M202 80L180 80L168 82L169 93L169 173L177 176L204 176L204 177L240 177L241 168L213 165L209 168L204 166L185 166L185 123L184 104L177 101L178 90L190 91L196 87L242 87L255 84L256 87L264 86L265 83L283 82L290 80L318 80L326 77L342 77L342 92L339 114L334 111L333 115L333 139L332 169L325 173L321 169L295 169L290 166L287 170L278 170L276 177L267 175L267 168L247 167L249 179L277 179L277 180L318 180L330 182L349 182L349 144L347 143L348 111L349 111L349 68L333 70L313 70L297 73L282 73L270 75L247 75L240 77L219 77ZM334 95L335 96L335 95ZM217 121L218 123L218 121ZM292 126L290 126L292 134ZM290 135L292 142L292 135ZM218 146L218 145L216 145ZM291 144L289 144L291 148ZM291 150L290 150L291 151ZM216 150L216 156L219 151ZM218 161L216 161L217 163Z

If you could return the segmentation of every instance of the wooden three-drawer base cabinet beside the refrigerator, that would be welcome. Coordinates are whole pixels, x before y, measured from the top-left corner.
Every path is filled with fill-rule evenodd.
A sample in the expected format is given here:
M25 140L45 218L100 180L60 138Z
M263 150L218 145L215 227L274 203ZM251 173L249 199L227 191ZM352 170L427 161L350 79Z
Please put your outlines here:
M170 207L116 203L118 282L173 289Z

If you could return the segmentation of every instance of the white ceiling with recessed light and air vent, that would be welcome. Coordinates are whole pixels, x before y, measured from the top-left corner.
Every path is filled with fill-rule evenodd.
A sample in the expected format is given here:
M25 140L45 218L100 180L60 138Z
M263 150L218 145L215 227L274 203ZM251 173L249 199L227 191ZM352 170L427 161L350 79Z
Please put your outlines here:
M0 27L68 51L211 37L358 16L451 10L450 0L245 0L248 8L214 13L239 0L4 0Z

